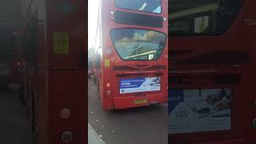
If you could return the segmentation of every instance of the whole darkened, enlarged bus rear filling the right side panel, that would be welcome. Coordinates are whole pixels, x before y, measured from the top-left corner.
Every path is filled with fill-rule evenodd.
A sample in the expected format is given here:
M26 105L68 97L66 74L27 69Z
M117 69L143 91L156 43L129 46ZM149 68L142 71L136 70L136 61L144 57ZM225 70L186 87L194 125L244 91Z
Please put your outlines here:
M255 1L169 1L169 142L256 142Z

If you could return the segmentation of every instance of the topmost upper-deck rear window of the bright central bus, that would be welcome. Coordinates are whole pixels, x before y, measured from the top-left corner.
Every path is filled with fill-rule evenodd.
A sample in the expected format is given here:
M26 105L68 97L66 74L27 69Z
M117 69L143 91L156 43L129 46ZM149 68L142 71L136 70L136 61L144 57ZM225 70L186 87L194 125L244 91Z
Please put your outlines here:
M121 9L138 10L160 14L161 0L116 0L115 5Z

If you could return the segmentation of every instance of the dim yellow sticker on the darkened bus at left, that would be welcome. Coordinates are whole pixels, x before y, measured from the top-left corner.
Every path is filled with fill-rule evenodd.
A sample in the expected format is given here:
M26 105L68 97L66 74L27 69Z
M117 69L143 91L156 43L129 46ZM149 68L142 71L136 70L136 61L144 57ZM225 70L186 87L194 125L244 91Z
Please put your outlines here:
M54 32L54 54L70 53L70 35L66 32Z

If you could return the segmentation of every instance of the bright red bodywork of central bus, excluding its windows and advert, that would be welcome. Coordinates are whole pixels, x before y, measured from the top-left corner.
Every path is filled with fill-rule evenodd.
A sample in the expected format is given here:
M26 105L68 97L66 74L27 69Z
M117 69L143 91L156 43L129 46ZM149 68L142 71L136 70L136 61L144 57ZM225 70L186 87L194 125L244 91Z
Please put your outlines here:
M168 66L168 42L162 51L162 55L156 61L126 61L118 56L111 41L110 31L118 29L141 29L155 30L166 34L168 26L167 0L162 0L162 13L151 14L135 10L124 10L115 6L114 0L102 1L101 25L102 46L99 46L96 54L96 82L102 102L102 110L124 109L138 106L149 106L153 103L167 102L167 66ZM112 12L113 14L111 14ZM126 14L142 14L147 16L158 16L162 20L162 27L135 26L126 23L115 22L117 12ZM116 18L114 18L116 17ZM125 17L122 17L125 18ZM127 17L128 18L128 17ZM96 47L97 49L98 47ZM98 64L97 64L98 63ZM99 65L99 66L97 66ZM120 94L119 82L122 78L146 78L161 77L161 90L134 92ZM143 103L135 104L135 101L146 100Z

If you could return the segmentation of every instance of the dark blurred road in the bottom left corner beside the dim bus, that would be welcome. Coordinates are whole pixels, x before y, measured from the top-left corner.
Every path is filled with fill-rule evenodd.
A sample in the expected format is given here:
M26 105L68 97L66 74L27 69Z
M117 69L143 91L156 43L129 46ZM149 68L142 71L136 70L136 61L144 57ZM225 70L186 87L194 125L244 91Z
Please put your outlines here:
M0 90L0 114L0 143L32 144L30 121L19 102L18 86Z

